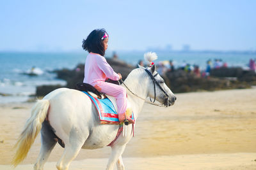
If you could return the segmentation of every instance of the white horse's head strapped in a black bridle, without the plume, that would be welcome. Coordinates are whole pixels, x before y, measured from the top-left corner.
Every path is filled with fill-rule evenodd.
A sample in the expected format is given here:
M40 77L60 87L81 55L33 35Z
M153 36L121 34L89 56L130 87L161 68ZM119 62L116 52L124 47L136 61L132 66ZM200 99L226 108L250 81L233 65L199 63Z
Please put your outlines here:
M154 99L154 101L158 101L164 106L172 106L177 99L174 96L173 92L167 87L164 83L163 78L157 73L156 65L152 67L142 67L139 66L141 69L144 69L147 77L148 77L148 97Z

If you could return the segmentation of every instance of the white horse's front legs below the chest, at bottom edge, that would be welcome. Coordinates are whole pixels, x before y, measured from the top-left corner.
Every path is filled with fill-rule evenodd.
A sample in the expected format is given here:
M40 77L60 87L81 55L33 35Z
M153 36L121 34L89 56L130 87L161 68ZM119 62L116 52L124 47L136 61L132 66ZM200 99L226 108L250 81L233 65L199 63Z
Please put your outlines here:
M122 164L122 166L118 166L118 170L120 168L124 169L124 164L123 164L121 155L124 152L125 146L126 146L126 144L112 146L112 148L111 148L111 155L110 155L110 158L108 160L107 170L114 169L114 166L115 166L115 163L117 162L117 160L118 161L121 160L120 163Z

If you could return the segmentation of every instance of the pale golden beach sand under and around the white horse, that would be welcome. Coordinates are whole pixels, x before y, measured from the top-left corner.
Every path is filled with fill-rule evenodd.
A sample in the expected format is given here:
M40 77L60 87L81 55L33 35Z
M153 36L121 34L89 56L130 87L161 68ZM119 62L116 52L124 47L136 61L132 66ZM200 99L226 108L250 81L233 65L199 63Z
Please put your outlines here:
M256 169L256 89L176 94L169 108L145 104L123 154L126 169ZM0 169L12 169L12 149L33 103L0 105ZM17 169L33 169L40 136ZM56 169L56 146L45 169ZM70 169L105 169L110 148L81 150Z

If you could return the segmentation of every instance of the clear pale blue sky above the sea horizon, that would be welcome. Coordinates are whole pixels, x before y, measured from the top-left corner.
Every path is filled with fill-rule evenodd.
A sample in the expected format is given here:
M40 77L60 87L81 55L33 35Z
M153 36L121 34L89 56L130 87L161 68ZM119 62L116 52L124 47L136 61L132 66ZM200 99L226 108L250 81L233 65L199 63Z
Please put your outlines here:
M0 51L80 51L97 28L109 50L256 50L256 1L0 2Z

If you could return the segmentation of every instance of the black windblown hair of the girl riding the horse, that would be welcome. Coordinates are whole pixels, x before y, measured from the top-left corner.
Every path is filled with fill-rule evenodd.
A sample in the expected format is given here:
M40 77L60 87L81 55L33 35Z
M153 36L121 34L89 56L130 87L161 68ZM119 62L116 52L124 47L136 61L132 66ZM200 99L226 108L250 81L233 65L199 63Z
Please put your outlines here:
M105 49L102 37L104 36L105 32L105 29L93 30L86 39L83 39L83 49L88 52L99 53L100 55L104 56Z

